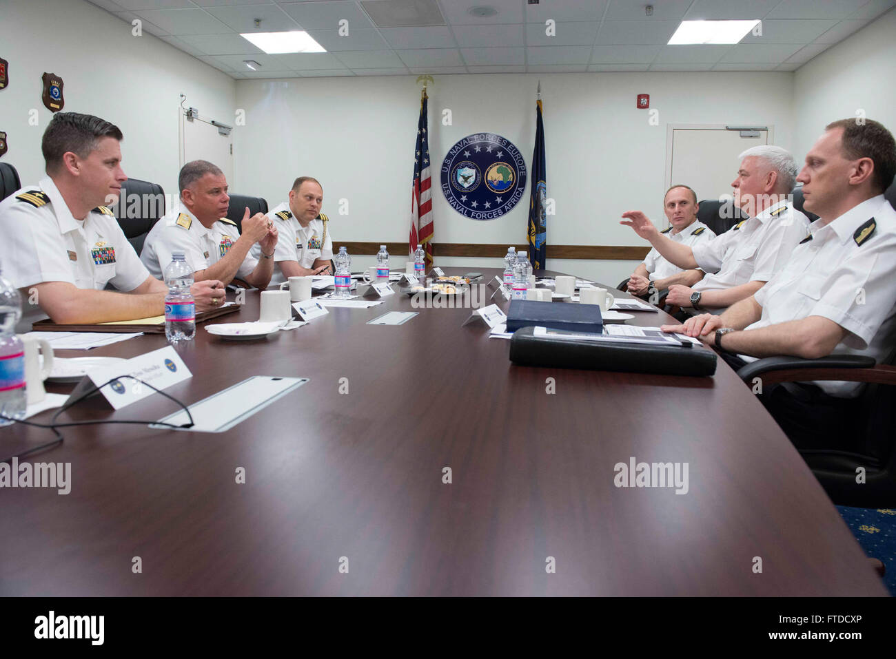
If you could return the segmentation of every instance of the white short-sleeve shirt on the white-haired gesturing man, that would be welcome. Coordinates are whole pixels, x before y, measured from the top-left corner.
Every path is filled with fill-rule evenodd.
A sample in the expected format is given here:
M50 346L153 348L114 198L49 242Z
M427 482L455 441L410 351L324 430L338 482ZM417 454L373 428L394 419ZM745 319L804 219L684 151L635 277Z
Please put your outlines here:
M724 234L695 244L694 261L708 274L695 291L732 288L748 281L768 281L784 267L790 252L806 237L809 218L787 200L755 218L745 219Z

